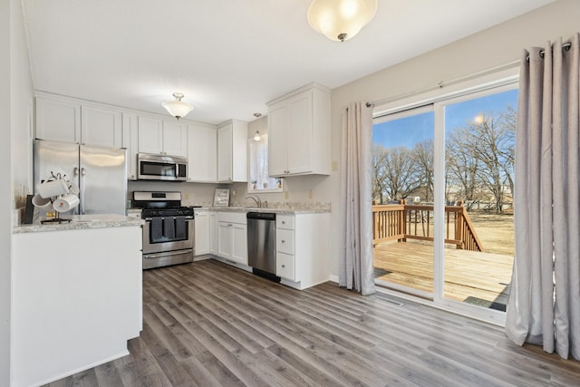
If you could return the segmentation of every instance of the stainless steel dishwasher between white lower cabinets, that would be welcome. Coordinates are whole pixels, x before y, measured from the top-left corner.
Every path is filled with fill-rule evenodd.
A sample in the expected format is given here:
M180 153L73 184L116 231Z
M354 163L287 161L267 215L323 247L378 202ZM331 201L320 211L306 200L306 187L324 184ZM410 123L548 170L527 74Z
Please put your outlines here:
M275 276L275 213L247 213L247 265L258 276Z

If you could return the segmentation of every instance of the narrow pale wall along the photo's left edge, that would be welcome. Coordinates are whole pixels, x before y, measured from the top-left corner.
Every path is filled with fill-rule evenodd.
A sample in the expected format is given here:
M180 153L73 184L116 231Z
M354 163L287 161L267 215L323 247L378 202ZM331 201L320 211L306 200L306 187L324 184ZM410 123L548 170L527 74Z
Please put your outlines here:
M10 278L14 191L26 193L32 171L33 82L19 0L0 2L0 165L9 165L0 184L0 385L10 384ZM18 150L18 151L15 151ZM8 183L10 182L10 183Z

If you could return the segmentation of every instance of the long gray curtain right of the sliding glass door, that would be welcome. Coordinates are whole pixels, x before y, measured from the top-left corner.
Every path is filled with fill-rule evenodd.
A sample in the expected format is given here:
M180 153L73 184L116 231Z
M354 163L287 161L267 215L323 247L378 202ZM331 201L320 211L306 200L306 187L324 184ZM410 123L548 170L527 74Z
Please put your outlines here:
M558 39L522 55L516 259L506 321L515 343L541 344L565 359L580 359L578 41L575 34L569 48Z

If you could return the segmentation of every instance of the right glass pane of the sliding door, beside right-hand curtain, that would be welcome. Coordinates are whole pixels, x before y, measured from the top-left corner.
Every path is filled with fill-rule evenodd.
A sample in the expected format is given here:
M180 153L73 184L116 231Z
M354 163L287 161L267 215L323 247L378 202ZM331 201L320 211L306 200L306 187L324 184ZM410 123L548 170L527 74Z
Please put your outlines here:
M445 129L442 295L505 311L514 260L517 89L469 94L437 109Z

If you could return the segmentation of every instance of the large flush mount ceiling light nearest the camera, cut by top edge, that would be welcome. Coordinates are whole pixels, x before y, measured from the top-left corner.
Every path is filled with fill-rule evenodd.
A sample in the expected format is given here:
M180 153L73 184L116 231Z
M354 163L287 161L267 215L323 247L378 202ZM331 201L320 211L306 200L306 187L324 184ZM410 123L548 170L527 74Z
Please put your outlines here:
M328 39L344 42L372 20L378 5L379 0L313 0L308 24Z

